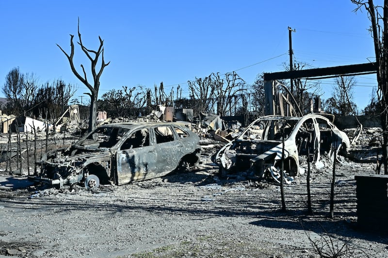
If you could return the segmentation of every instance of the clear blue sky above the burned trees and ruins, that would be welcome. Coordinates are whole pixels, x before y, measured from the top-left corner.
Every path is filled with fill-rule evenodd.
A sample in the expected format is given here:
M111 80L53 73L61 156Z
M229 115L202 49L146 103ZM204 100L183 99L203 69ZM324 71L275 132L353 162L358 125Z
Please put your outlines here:
M101 36L104 58L111 62L101 76L99 97L123 85L152 89L161 81L166 92L180 84L186 97L187 81L212 72L236 71L252 84L258 74L289 64L288 26L296 30L296 62L311 68L374 62L370 21L365 11L354 13L355 7L350 0L2 0L0 86L18 66L41 83L77 84L75 97L88 92L56 46L70 51L69 34L76 42L78 17L83 44L97 49ZM78 45L75 64L90 67ZM333 81L322 81L323 98L330 97ZM376 76L356 81L354 100L361 109Z

